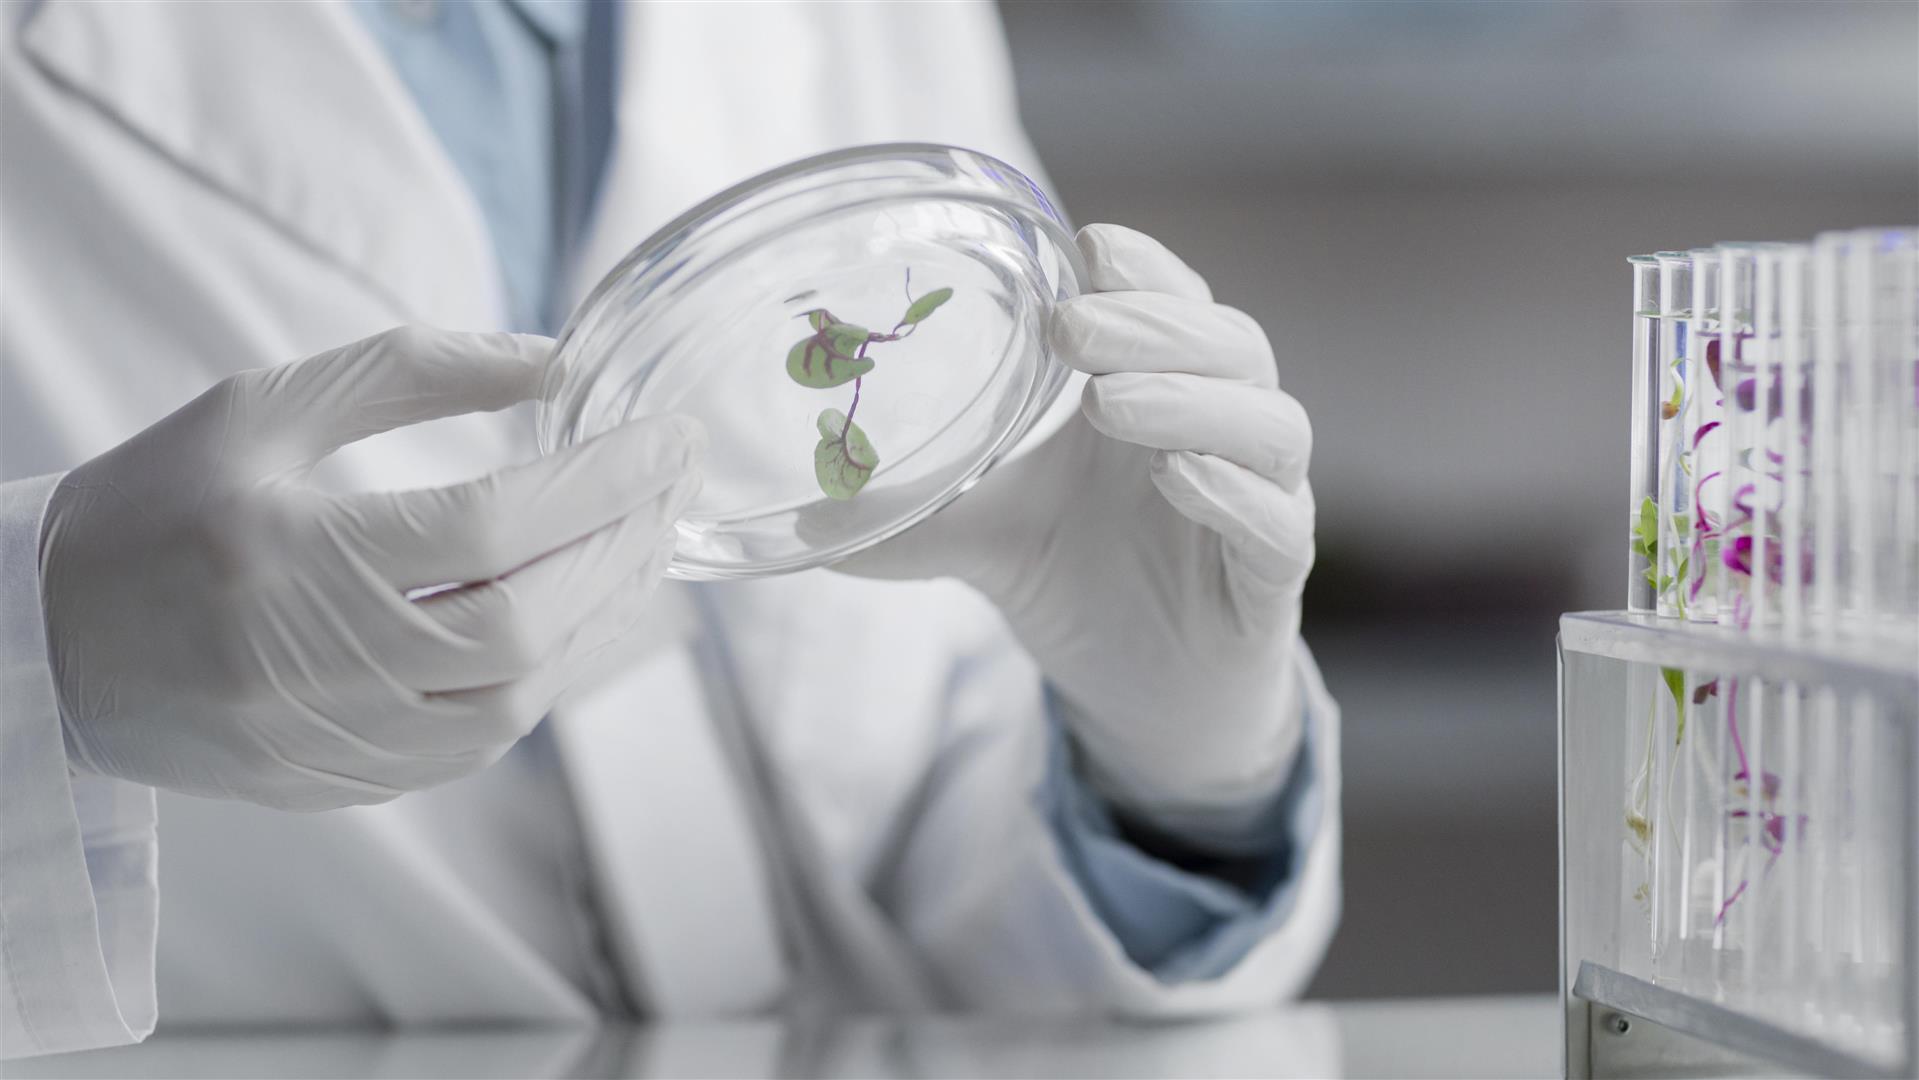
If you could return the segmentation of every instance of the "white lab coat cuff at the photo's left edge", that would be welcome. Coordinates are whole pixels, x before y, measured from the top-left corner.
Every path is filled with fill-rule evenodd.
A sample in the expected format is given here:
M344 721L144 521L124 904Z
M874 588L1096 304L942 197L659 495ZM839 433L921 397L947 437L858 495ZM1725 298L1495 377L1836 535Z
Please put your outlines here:
M0 483L0 1057L154 1030L154 790L67 769L40 614L58 476Z

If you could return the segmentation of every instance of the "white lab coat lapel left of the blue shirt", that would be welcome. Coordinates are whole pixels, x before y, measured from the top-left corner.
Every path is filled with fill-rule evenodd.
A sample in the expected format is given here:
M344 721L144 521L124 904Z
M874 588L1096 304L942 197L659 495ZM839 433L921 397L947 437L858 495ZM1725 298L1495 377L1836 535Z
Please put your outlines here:
M344 6L50 0L19 42L154 152L384 297L395 320L499 324L486 219Z

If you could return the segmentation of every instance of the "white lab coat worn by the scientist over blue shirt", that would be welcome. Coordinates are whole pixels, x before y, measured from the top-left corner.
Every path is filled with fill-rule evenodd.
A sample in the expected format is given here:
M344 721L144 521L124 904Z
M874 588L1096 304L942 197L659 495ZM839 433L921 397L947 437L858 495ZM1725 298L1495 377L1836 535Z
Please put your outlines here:
M169 1021L591 1021L447 871L424 825L447 788L322 815L161 796L155 829L152 792L69 781L33 560L50 483L19 480L240 368L397 322L497 326L503 290L459 173L342 6L48 0L0 21L6 1053L144 1036L155 932ZM570 295L781 161L931 140L1032 163L990 6L654 4L628 12L622 50L610 173ZM472 476L530 455L528 426L509 412L386 435L332 478ZM827 572L704 593L735 702L712 700L710 666L658 631L555 719L608 948L649 1007L1167 1015L1278 999L1318 963L1339 773L1309 660L1324 813L1291 917L1224 976L1161 984L1092 911L1034 806L1040 677L988 604L956 583ZM794 648L827 625L862 656L831 677ZM652 729L679 735L633 735ZM664 767L628 767L649 754Z

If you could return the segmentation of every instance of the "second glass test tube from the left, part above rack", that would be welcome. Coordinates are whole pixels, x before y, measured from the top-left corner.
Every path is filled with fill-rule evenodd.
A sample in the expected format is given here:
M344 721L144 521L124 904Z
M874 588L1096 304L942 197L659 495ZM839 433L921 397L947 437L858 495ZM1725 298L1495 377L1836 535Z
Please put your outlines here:
M1685 618L1687 558L1693 545L1693 470L1687 439L1687 401L1694 397L1687 370L1693 257L1683 251L1660 251L1654 259L1660 267L1658 614Z

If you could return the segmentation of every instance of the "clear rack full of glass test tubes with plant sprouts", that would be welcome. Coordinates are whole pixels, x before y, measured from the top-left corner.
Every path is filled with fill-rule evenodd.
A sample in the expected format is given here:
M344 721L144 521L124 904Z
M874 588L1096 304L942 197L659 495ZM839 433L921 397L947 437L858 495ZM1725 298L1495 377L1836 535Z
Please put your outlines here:
M1627 597L1560 620L1568 1076L1919 1074L1919 230L1629 259Z

